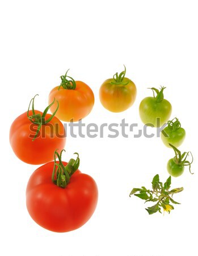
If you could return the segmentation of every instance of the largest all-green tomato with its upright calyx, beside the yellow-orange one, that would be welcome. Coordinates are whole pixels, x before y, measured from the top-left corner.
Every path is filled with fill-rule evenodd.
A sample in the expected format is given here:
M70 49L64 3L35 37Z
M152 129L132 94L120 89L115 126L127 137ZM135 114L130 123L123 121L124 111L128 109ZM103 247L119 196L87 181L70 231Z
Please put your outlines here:
M140 118L145 125L161 127L170 118L172 106L169 101L163 98L165 87L162 87L160 91L155 88L150 89L153 90L153 97L146 97L141 101ZM157 93L156 97L154 91Z

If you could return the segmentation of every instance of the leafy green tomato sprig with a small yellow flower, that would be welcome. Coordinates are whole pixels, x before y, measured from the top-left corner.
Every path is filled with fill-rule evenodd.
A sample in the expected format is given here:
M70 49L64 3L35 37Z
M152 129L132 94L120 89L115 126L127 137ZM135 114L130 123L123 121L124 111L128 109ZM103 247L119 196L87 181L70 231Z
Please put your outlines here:
M152 180L152 189L146 189L145 187L141 188L133 188L130 192L129 196L137 196L146 202L157 202L157 204L153 205L152 207L146 208L149 214L153 214L156 212L161 212L161 208L163 208L164 212L170 213L170 210L174 209L173 205L170 204L180 204L172 199L172 196L175 193L179 193L183 191L183 187L181 188L174 188L169 191L171 187L171 176L168 177L166 182L163 184L159 181L159 175L155 175Z

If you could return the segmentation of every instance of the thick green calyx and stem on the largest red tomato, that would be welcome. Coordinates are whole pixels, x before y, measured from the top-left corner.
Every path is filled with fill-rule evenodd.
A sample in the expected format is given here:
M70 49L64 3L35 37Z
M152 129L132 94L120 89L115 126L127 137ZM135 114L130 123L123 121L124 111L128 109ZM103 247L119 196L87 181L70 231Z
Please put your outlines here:
M71 158L66 166L62 163L62 150L60 155L57 150L54 152L54 168L52 172L52 182L56 184L58 187L66 188L70 181L71 175L74 174L75 171L78 170L80 159L78 153L74 153L77 155L77 159ZM59 163L56 162L56 157L58 158Z

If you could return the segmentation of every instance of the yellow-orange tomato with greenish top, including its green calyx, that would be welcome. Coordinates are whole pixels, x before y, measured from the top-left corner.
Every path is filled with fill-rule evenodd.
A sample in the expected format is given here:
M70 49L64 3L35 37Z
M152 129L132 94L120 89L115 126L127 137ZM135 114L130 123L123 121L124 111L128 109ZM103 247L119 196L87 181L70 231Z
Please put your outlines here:
M134 82L125 77L126 68L100 86L99 97L104 108L111 112L123 112L136 100L137 89Z

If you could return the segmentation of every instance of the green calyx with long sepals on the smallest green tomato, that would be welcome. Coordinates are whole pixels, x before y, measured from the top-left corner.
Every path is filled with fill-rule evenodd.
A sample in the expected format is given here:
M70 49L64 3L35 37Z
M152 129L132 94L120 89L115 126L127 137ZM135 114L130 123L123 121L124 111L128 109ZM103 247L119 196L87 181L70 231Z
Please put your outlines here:
M174 159L174 162L175 162L176 164L178 164L179 166L189 166L189 172L190 172L191 174L193 174L193 173L191 172L191 164L192 164L192 162L193 162L193 156L192 156L191 151L184 152L184 153L182 154L181 151L178 150L178 148L176 148L175 146L173 146L173 145L170 144L170 143L168 143L168 144L169 144L169 146L171 146L171 147L173 148L173 150L174 150L174 152L175 152L175 156L174 156L174 158L173 158L173 159ZM192 157L191 162L189 162L189 161L187 160L187 157L188 157L189 155L191 155L191 157Z

